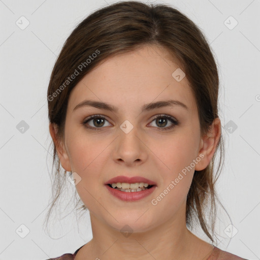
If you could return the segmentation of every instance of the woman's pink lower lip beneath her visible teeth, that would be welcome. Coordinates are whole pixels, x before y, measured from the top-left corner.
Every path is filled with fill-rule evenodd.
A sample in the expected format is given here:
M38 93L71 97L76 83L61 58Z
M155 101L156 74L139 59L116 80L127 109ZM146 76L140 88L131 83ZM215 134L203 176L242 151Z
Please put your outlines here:
M149 196L154 190L155 185L153 185L149 189L141 190L141 191L134 191L134 192L124 192L115 188L111 188L108 185L105 185L109 192L114 195L116 198L122 200L122 201L138 201L141 200L147 196Z

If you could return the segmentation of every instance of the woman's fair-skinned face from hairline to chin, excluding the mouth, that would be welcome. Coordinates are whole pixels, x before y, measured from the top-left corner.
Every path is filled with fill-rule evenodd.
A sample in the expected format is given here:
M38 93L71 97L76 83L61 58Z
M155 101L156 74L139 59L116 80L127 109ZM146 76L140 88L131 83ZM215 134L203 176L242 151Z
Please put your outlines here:
M187 78L177 81L172 76L178 68L166 49L144 46L107 59L70 94L59 159L64 169L76 172L76 181L80 176L76 189L90 215L111 228L128 224L143 232L167 221L185 223L194 170L205 169L212 154L205 152ZM76 108L86 100L115 110ZM142 110L146 104L168 100L184 105ZM89 119L92 115L95 118ZM156 185L143 199L123 201L105 185L117 176L140 176Z

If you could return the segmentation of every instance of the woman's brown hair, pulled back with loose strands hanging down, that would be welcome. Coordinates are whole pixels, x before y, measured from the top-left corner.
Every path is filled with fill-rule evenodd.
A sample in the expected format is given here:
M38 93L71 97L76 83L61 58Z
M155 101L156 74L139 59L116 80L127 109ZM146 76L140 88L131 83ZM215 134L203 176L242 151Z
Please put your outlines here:
M129 1L117 2L91 13L76 26L64 43L51 73L47 93L49 121L58 126L59 138L64 137L68 100L76 84L101 61L147 44L164 47L178 59L196 98L201 136L208 132L213 120L218 117L219 78L215 59L204 35L189 18L171 6ZM76 77L68 82L68 77L73 74ZM60 196L62 177L64 179L53 142L52 145L52 169L56 165L52 186L54 199L48 219ZM214 179L213 168L219 149L217 172L220 174L222 135L207 168L194 172L186 202L187 226L192 228L193 221L198 218L202 230L212 242L217 199L215 182L219 177L218 174ZM206 221L208 206L211 225ZM86 209L84 205L81 208Z

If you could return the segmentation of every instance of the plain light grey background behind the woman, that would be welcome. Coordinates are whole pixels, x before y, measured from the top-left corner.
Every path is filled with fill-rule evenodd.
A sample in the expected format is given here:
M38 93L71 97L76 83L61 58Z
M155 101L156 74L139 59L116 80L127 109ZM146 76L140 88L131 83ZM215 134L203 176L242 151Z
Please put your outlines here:
M215 53L226 151L217 192L238 230L230 239L224 232L230 220L219 217L222 236L217 246L260 259L260 1L150 2L170 3L186 14ZM74 213L57 220L51 237L43 230L52 162L46 95L55 59L73 28L90 12L111 3L0 1L0 259L47 259L73 253L92 238L88 212L79 224ZM25 24L21 16L29 21L25 29L16 24ZM29 127L23 133L22 120ZM68 185L70 198L74 187ZM197 234L205 238L200 231Z

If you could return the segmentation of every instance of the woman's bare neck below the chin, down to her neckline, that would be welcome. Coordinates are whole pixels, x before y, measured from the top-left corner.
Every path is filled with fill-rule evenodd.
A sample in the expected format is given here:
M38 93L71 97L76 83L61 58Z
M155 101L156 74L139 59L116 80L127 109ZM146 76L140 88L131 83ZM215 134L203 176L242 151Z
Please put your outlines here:
M123 235L91 212L90 218L93 239L79 250L77 260L86 257L112 260L118 256L127 260L206 260L213 249L212 245L193 235L186 228L186 222L180 223L177 219L170 219L145 232Z

